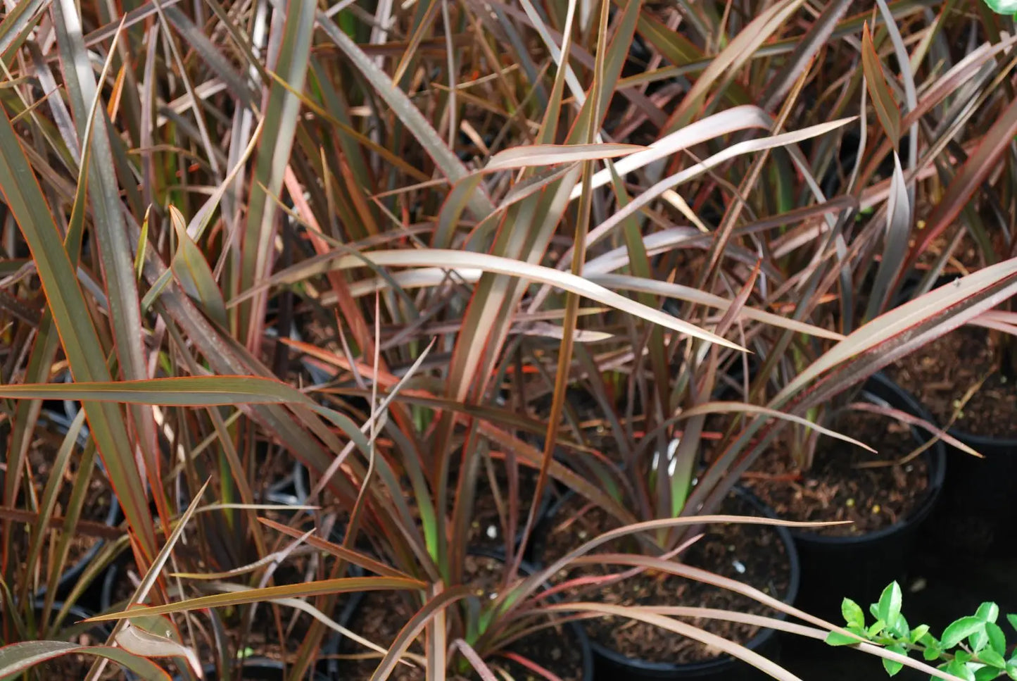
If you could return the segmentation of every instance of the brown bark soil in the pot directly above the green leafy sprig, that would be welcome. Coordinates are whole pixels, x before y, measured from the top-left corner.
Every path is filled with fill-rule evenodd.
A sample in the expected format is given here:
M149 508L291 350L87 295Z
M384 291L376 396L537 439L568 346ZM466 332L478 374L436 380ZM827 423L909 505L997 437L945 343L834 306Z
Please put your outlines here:
M878 450L876 453L824 437L813 466L800 470L783 447L764 452L745 476L745 485L787 520L850 520L850 525L815 531L829 535L874 532L906 518L920 506L929 489L929 460L920 455L904 465L875 468L859 464L897 461L917 442L897 420L861 411L846 411L832 428Z

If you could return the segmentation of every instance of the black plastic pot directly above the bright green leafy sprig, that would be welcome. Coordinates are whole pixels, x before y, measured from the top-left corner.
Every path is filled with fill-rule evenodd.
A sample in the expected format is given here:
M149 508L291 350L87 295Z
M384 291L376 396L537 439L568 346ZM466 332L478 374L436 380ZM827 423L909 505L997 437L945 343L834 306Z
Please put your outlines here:
M862 397L934 422L911 395L882 374L865 383ZM917 428L911 428L911 436L916 445L930 439L928 432ZM839 622L840 604L845 597L856 603L873 603L887 584L903 579L919 528L939 501L946 475L946 449L941 442L921 456L929 463L928 491L906 517L861 535L791 531L802 565L801 588L795 603L799 609Z

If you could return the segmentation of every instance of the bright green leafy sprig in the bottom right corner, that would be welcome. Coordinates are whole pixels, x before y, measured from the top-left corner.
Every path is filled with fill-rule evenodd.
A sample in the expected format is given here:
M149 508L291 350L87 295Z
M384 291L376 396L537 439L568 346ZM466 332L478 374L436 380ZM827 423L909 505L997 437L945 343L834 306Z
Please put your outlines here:
M1003 628L996 623L1000 608L995 603L983 603L974 615L954 621L943 630L940 638L930 633L926 624L913 629L908 626L900 608L901 590L897 582L883 589L879 603L870 607L869 611L876 621L868 626L865 614L858 604L844 599L840 606L847 631L888 650L901 655L919 652L925 662L940 662L940 670L967 681L989 681L1001 677L1017 679L1017 655L1009 659L1006 657L1007 639ZM1017 630L1017 615L1007 615L1007 621ZM831 631L826 642L830 645L853 645L858 640ZM894 676L903 665L884 659L883 667L890 676Z

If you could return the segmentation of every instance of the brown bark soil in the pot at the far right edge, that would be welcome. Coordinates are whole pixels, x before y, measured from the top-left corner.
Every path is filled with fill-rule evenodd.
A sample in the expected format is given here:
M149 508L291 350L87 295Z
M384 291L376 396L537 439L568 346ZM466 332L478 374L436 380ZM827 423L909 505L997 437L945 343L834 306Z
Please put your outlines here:
M967 391L988 377L951 428L983 437L1017 437L1017 381L997 371L997 349L986 329L961 327L888 367L887 374L941 425L950 422Z

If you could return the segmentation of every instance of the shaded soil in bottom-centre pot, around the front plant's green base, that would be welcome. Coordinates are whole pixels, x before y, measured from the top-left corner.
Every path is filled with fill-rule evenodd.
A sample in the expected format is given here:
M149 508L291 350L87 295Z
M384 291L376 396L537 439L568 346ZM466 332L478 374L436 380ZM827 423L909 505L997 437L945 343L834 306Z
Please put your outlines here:
M496 558L467 557L465 562L467 578L471 586L477 589L479 598L493 599L496 595L502 585L503 566L504 564ZM354 614L353 621L347 626L368 640L387 647L418 607L411 605L397 591L367 591ZM512 644L508 650L549 670L561 681L580 681L582 651L579 646L570 644L567 629L556 631L560 631L563 635L548 635L548 630L544 629ZM410 652L422 655L423 648L420 644L414 643L410 646ZM347 638L343 639L339 654L342 657L342 678L346 681L369 679L379 662L378 655L365 650L364 646ZM351 660L348 658L351 655L360 659ZM485 662L498 678L501 678L498 673L500 668L517 681L542 680L542 677L528 671L522 665L500 656L495 655ZM422 681L424 670L419 667L399 665L390 678L396 681Z

